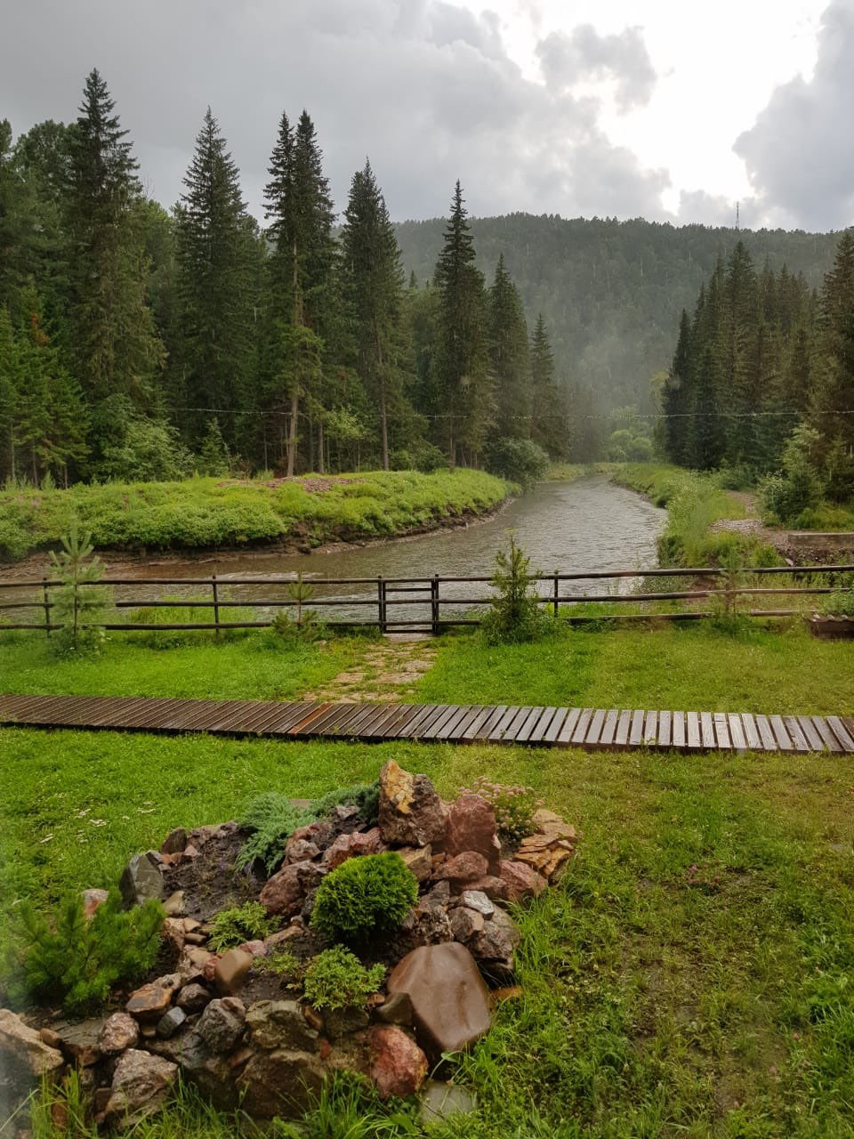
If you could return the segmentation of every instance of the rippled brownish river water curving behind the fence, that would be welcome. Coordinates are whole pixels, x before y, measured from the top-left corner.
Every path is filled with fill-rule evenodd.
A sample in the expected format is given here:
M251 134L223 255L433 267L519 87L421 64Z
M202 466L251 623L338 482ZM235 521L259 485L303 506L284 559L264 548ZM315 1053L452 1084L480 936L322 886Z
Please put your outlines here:
M508 531L531 558L531 568L542 573L586 573L603 570L634 570L639 572L656 564L656 539L662 532L666 513L641 495L615 486L606 478L594 476L574 482L541 483L531 493L510 502L503 510L468 526L438 530L417 538L375 542L362 547L334 548L315 554L280 554L247 550L243 552L206 554L195 558L151 558L131 564L120 563L107 556L107 574L123 579L210 577L215 573L221 583L220 597L232 600L285 598L285 584L229 585L235 579L265 577L271 574L303 579L315 583L317 598L336 598L350 604L345 607L323 607L331 620L376 620L377 576L384 579L449 576L491 576L495 568L495 554L508 547ZM7 576L7 574L2 574ZM32 577L34 574L27 574ZM321 584L329 577L373 579L364 584L328 587ZM631 579L618 582L563 582L563 596L585 592L606 592L619 589L625 592ZM551 583L543 584L543 591ZM473 593L473 589L475 592ZM16 591L17 592L17 591ZM488 595L490 588L465 583L442 585L443 598ZM191 584L117 585L116 599L149 599L158 597L198 597L210 599L210 587ZM427 615L427 595L418 597L405 592L395 596L400 603L388 609L388 620L424 618ZM420 604L419 604L420 603ZM311 603L309 603L311 606ZM443 605L442 615L465 615L462 606ZM233 620L227 608L221 620ZM35 620L40 620L38 616ZM122 620L132 620L124 609ZM257 620L257 617L256 617Z

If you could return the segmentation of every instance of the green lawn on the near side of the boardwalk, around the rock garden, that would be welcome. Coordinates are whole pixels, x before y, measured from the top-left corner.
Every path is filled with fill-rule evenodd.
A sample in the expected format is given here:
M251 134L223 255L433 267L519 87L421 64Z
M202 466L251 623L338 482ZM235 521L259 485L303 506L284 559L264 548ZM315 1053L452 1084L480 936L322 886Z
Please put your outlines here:
M564 886L523 919L524 997L460 1065L477 1116L440 1134L851 1136L854 771L836 759L10 729L5 906L107 885L179 822L224 819L265 788L369 779L392 755L445 795L483 772L529 782L583 834ZM371 1130L327 1117L309 1133L425 1133L360 1113ZM188 1108L145 1133L213 1129Z

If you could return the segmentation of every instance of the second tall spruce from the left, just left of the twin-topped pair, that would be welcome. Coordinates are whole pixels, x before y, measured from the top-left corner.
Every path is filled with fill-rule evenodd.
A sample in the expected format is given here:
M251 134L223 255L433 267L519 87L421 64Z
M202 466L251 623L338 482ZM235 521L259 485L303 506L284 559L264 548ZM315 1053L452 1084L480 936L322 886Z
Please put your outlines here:
M235 416L251 398L253 379L261 243L225 147L208 107L175 210L182 335L173 400L202 412L181 417L192 444L200 443L208 418L217 416L233 445Z

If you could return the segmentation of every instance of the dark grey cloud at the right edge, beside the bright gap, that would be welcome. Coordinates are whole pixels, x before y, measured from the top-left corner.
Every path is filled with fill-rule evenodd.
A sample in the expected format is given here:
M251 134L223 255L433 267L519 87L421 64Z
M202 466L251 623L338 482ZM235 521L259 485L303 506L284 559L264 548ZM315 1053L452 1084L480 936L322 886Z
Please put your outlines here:
M778 87L750 130L736 140L765 211L804 229L854 224L854 3L826 9L811 80Z

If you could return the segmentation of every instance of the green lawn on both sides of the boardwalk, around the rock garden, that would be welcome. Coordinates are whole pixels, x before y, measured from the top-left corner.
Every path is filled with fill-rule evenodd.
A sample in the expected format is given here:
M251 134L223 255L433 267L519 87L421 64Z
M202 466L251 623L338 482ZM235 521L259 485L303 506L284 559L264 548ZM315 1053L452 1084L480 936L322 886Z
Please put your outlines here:
M377 642L281 649L248 634L157 650L113 641L75 665L35 634L0 640L6 691L290 698L373 685ZM427 649L425 649L427 652ZM572 632L429 647L399 678L425 700L849 712L852 649L798 626ZM435 656L433 655L435 653ZM434 663L435 662L435 663ZM343 681L340 682L343 685ZM307 1139L695 1139L854 1131L854 768L838 757L608 754L500 746L279 744L0 730L0 924L19 901L110 885L174 826L258 792L313 796L395 757L451 796L488 773L534 786L582 831L564 884L520 915L523 997L455 1065L476 1115L433 1130L345 1083ZM0 937L3 935L0 934ZM183 1093L138 1139L225 1139ZM285 1132L280 1132L284 1134ZM57 1131L47 1115L36 1139Z

